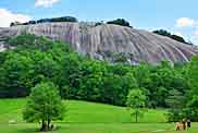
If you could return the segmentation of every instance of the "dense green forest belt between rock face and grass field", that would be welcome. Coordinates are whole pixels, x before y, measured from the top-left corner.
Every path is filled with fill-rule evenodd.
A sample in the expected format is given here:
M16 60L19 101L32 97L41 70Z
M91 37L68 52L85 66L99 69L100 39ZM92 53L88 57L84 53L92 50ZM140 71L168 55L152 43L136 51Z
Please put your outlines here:
M171 108L170 121L185 114L198 119L198 57L186 64L129 65L92 60L65 43L35 35L7 44L12 48L0 52L1 98L28 96L35 85L50 81L62 98L125 106L128 90L139 88L148 108Z

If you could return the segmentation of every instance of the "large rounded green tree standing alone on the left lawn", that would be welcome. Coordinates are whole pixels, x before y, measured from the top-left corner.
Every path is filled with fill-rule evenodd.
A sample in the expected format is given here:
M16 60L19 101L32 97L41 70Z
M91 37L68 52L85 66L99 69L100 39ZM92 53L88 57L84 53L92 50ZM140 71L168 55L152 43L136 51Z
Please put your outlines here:
M53 83L42 82L32 88L23 118L27 122L41 123L41 131L50 130L53 120L62 120L64 106Z

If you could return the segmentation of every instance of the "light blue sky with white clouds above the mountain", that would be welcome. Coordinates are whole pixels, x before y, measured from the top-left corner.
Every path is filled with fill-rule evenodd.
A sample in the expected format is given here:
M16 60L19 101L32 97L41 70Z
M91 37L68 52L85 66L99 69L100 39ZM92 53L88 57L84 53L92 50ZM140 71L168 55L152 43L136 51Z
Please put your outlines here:
M67 15L88 22L121 17L136 28L168 29L198 45L197 5L198 0L0 0L0 27Z

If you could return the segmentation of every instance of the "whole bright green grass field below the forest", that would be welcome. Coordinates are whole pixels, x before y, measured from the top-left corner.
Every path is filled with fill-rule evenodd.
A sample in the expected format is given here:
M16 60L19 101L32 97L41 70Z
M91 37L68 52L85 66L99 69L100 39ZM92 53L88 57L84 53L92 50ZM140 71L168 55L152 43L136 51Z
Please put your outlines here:
M38 124L25 123L22 109L26 99L0 100L0 133L36 133ZM64 121L55 123L52 133L176 133L173 123L165 123L165 110L148 110L140 123L122 107L70 100L65 101L67 111ZM16 124L9 124L14 120ZM198 133L198 123L187 133Z

